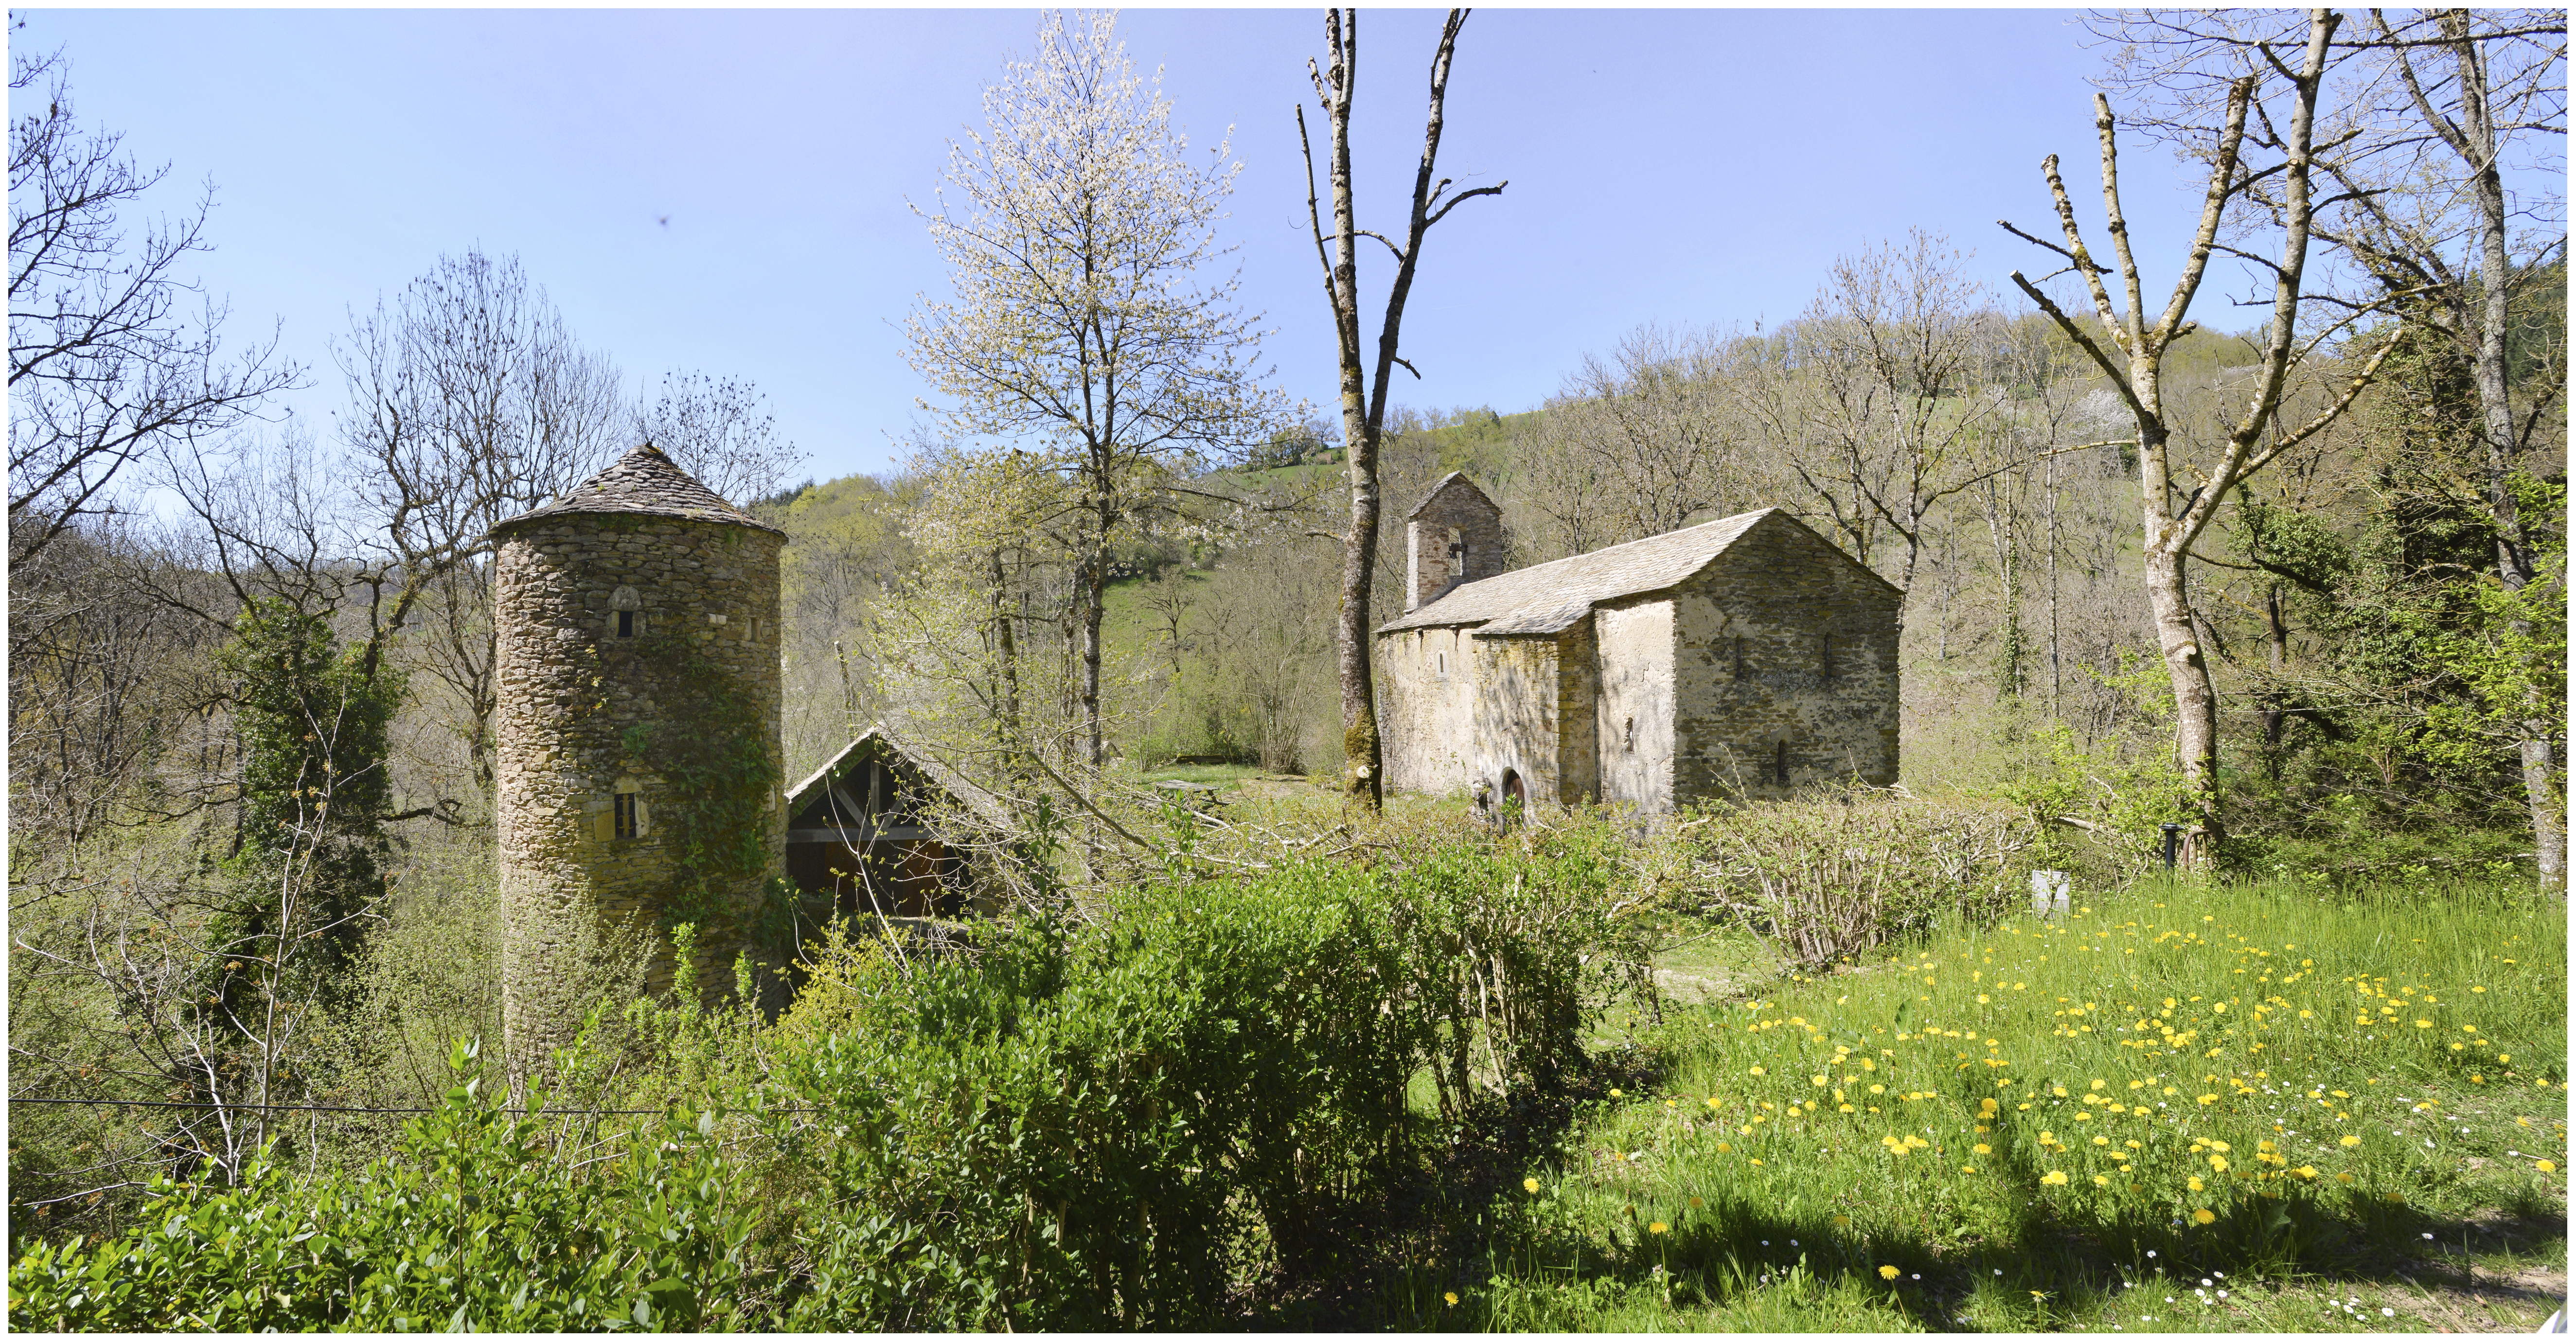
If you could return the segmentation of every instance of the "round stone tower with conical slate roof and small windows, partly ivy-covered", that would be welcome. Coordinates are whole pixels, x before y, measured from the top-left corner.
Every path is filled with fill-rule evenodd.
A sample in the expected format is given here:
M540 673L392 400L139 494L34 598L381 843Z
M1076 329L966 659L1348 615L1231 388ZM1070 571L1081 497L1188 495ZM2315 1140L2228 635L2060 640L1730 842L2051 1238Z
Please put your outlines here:
M786 533L644 443L492 528L502 1030L518 1074L567 1043L603 935L698 927L732 984L783 876L778 549Z

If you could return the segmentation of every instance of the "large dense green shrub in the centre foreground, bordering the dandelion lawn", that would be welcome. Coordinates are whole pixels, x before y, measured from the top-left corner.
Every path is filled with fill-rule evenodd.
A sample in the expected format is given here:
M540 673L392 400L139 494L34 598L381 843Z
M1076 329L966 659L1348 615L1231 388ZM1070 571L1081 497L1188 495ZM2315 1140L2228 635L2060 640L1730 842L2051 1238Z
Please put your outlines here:
M786 1327L1177 1327L1311 1272L1419 1169L1409 1082L1553 1079L1615 987L1584 837L1159 886L974 958L809 984L781 1151L822 1169ZM829 1020L829 1033L814 1023Z

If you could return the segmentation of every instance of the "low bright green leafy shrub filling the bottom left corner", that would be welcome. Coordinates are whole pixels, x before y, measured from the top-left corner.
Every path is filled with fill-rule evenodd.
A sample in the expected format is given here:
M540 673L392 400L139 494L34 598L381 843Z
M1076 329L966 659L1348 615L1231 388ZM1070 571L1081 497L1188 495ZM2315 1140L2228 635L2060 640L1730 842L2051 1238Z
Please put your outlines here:
M711 1115L672 1113L587 1164L533 1095L515 1118L461 1084L361 1175L258 1162L232 1187L152 1187L139 1231L36 1242L10 1265L10 1327L719 1329L747 1321L750 1213Z

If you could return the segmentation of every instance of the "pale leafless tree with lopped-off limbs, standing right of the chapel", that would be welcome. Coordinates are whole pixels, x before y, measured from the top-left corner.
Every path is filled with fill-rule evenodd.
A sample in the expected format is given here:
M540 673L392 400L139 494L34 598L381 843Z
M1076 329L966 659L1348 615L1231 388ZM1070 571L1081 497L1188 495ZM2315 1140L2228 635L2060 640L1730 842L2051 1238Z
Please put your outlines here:
M2058 327L2112 379L2112 386L2120 389L2120 397L2128 402L2130 417L2138 428L2138 507L2143 515L2146 598L2156 613L2156 641L2164 652L2166 675L2174 685L2174 755L2195 811L2187 837L2187 855L2195 865L2205 865L2215 855L2215 845L2223 840L2226 829L2218 814L2218 693L2210 685L2210 667L2200 649L2200 626L2187 590L2187 559L2192 541L2210 525L2218 505L2226 502L2226 495L2239 482L2334 422L2362 392L2362 386L2370 384L2393 348L2393 343L2380 343L2367 358L2362 358L2360 368L2342 379L2339 394L2329 397L2329 404L2308 422L2298 428L2275 425L2275 412L2282 407L2293 373L2303 371L2326 340L2344 332L2362 312L2367 312L2349 309L2334 322L2324 322L2321 327L2308 325L2306 330L2300 322L2308 240L2316 216L2313 155L2318 95L2324 90L2329 44L2339 23L2342 15L2331 10L2311 10L2303 49L2282 52L2275 44L2257 44L2264 70L2244 75L2228 85L2223 121L2208 134L2210 178L2202 198L2200 227L2192 234L2182 276L2174 281L2174 291L2154 325L2146 314L2146 281L2141 278L2138 260L2130 252L2128 222L2120 211L2117 121L2110 111L2110 98L2099 93L2094 95L2094 129L2102 142L2102 209L2117 270L2097 265L2092 252L2084 247L2084 234L2076 224L2066 183L2058 175L2056 155L2048 155L2040 162L2040 173L2045 175L2050 198L2056 201L2058 227L2066 245L2043 242L2022 229L2014 229L2012 224L2004 224L2017 237L2063 255L2069 268L2084 278L2094 301L2097 325L2076 322L2056 304L2056 299L2048 296L2045 288L2040 288L2040 281L2032 281L2020 270L2012 273L2012 281L2022 288L2022 294L2048 312L2048 317L2056 319ZM2290 67L2282 59L2285 54L2300 64ZM2269 106L2264 106L2262 131L2249 137L2249 113L2262 103L2257 93L2269 93L2272 88L2287 90L2287 116L2272 116ZM2254 167L2244 157L2249 147L2269 149L2275 162ZM2221 245L2221 224L2228 222L2228 206L2249 201L2251 191L2272 178L2277 178L2277 185L2267 191L2277 191L2280 201L2277 258L2259 258L2244 247ZM2190 456L2200 453L2190 448L2197 448L2200 443L2177 443L2174 425L2166 415L2164 355L2174 340L2195 330L2195 322L2190 322L2187 314L2200 291L2200 281L2208 273L2208 263L2218 250L2246 258L2272 276L2272 330L2262 363L2254 373L2254 394L2244 417L2233 420L2221 443L2205 446L2210 456L2205 456L2195 469ZM2120 299L2115 299L2102 281L2102 276L2110 273L2120 276ZM2306 371L2313 373L2313 368ZM2172 507L2177 448L2187 451L2182 469L2200 477L2179 515Z

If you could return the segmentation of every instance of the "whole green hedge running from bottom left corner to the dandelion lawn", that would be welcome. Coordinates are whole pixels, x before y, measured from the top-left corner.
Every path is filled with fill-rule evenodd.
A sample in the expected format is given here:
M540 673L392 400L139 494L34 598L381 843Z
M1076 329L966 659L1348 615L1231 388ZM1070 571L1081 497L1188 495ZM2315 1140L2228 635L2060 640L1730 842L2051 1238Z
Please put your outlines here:
M757 1033L762 1082L618 1162L459 1087L363 1177L165 1187L149 1231L33 1247L10 1321L1208 1321L1363 1244L1435 1118L1582 1061L1584 1002L1641 979L1607 842L1306 863L997 925L971 956L850 950Z

